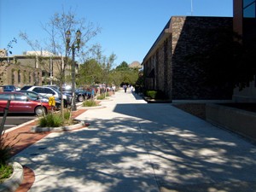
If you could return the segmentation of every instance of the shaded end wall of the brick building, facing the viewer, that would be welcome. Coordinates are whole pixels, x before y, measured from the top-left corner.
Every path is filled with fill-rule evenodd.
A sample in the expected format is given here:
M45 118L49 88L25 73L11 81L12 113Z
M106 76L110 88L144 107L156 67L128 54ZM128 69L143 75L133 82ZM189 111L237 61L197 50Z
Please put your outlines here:
M188 57L211 49L213 39L207 34L231 29L232 18L173 17L172 26L172 99L231 99L231 87L206 85L201 64Z

